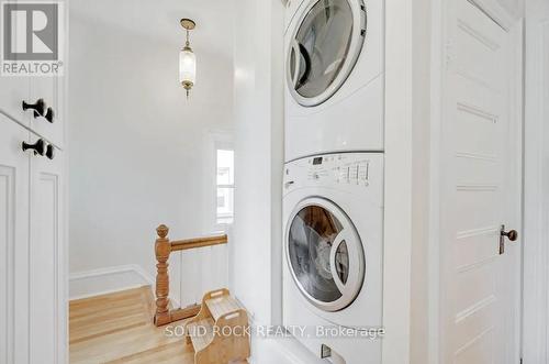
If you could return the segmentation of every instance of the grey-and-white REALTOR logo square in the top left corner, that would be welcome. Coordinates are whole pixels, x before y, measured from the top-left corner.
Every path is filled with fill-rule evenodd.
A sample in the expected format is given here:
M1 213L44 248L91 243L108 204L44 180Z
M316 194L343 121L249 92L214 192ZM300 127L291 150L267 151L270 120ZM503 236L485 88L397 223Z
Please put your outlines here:
M65 55L61 1L2 1L1 76L60 76Z

